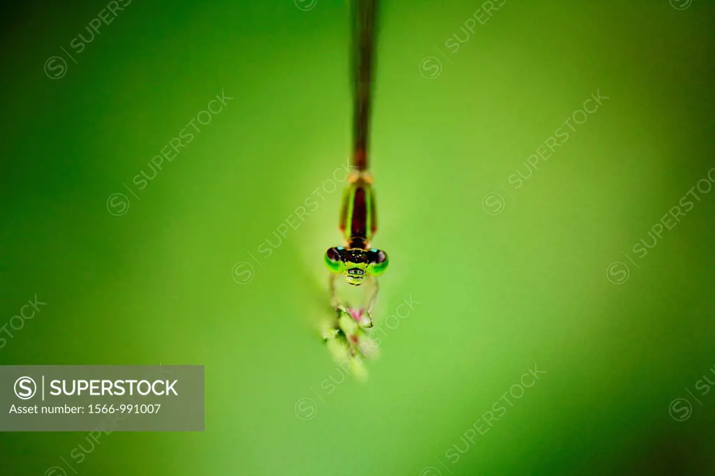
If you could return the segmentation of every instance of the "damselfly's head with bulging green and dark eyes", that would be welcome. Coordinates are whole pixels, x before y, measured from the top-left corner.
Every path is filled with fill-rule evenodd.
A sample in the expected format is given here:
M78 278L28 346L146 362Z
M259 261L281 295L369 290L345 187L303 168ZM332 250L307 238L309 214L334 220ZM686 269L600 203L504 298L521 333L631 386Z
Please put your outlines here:
M359 286L370 276L380 276L388 269L388 254L380 249L332 247L325 252L325 266L330 272L344 274L350 284Z

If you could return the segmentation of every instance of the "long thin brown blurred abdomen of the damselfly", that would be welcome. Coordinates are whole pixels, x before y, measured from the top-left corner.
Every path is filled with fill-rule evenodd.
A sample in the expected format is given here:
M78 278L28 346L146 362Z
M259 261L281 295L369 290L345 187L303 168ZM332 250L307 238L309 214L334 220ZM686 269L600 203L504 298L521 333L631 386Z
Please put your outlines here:
M359 171L368 169L370 113L375 70L375 23L378 0L352 0L353 107L354 132L352 165Z

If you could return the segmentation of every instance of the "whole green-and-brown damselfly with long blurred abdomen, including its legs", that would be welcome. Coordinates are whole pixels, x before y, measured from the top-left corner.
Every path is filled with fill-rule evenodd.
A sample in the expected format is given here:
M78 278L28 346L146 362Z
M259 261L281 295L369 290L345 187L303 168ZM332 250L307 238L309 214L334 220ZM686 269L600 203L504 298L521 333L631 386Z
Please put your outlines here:
M335 280L340 274L349 284L360 286L370 283L373 293L366 309L360 310L363 327L372 327L370 312L378 294L375 277L388 268L388 255L373 248L371 241L378 229L377 205L373 191L373 178L368 169L370 107L373 96L373 71L375 66L375 24L377 0L353 0L352 25L352 76L353 76L353 144L352 173L342 197L340 231L345 236L345 246L332 247L325 252L325 264L330 270L332 306L343 314L354 313L341 304L335 292ZM352 314L351 314L352 315Z

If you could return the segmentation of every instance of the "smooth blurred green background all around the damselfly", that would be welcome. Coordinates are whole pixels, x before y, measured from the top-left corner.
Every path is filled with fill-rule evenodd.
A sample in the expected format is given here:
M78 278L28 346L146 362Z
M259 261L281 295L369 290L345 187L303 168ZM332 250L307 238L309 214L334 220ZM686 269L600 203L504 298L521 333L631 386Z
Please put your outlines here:
M384 2L391 264L365 384L314 329L340 244L347 2L117 4L79 42L106 3L5 7L0 325L48 304L0 365L205 365L206 431L114 432L79 465L83 433L4 433L0 474L715 475L715 392L696 390L715 382L715 192L649 235L715 167L713 2Z

